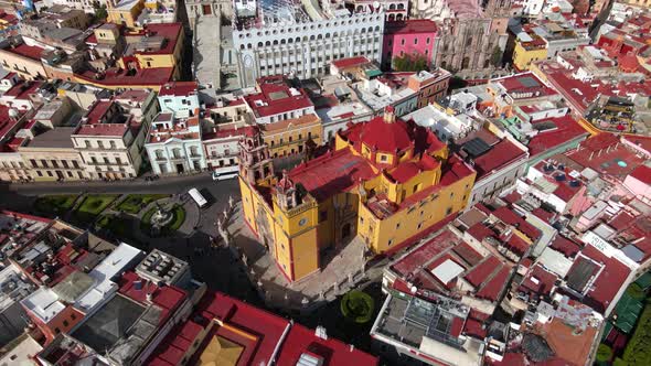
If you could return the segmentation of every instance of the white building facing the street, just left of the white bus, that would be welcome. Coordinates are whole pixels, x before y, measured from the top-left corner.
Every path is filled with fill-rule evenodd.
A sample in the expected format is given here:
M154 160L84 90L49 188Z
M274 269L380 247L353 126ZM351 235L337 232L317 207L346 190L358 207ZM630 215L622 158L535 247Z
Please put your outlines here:
M201 172L207 168L198 116L174 119L170 112L159 114L145 148L154 174Z

